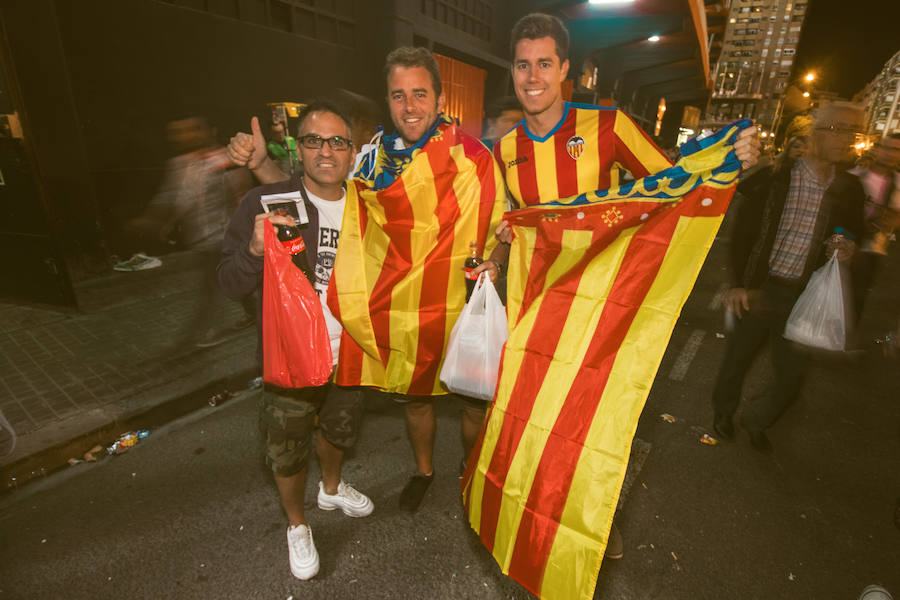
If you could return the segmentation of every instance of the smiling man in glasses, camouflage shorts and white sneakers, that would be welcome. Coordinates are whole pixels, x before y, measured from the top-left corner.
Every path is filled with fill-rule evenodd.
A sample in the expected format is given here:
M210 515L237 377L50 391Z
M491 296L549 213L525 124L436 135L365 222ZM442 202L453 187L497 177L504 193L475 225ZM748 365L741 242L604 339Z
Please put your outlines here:
M332 355L337 362L341 325L328 310L325 297L344 214L344 181L353 164L350 126L339 108L329 102L314 101L300 113L297 142L303 175L295 173L288 181L254 188L244 196L225 232L219 282L231 298L242 298L255 289L261 292L265 221L274 225L295 224L293 217L266 212L261 199L271 194L299 193L309 218L309 225L301 229L301 234L309 249L307 257L310 263L315 263L310 264L315 270L314 288L322 300ZM262 153L265 155L264 149ZM262 323L261 304L262 293L259 293L258 334ZM319 571L319 555L303 509L306 464L316 414L319 434L315 446L322 467L319 508L341 509L350 517L365 517L374 509L368 497L341 479L344 450L356 441L362 412L359 388L327 383L287 390L266 384L263 390L259 425L265 436L266 463L272 468L281 506L290 522L287 530L290 567L298 579L310 579Z

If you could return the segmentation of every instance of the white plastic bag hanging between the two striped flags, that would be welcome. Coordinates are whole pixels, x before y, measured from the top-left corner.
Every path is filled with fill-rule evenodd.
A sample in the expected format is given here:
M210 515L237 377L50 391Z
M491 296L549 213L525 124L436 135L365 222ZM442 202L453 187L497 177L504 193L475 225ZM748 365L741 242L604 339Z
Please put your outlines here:
M492 400L508 337L506 309L490 277L482 273L450 332L441 382L451 392Z

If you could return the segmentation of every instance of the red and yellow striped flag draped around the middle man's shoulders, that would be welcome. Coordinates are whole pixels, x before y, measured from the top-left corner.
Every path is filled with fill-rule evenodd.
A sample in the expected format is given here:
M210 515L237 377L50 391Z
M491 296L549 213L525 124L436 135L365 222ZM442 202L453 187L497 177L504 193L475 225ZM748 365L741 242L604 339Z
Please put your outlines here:
M348 191L329 290L344 326L336 381L446 394L439 374L465 304L463 263L470 242L485 256L496 245L503 180L490 151L444 120L395 166L384 187L379 174Z

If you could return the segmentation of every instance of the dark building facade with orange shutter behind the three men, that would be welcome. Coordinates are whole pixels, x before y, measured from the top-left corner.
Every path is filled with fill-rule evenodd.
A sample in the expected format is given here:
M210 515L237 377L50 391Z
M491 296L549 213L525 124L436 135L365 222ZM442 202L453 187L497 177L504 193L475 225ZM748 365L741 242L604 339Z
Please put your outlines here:
M699 0L688 4L703 10ZM204 116L224 145L270 102L344 89L383 106L384 56L418 45L450 71L442 72L448 112L477 131L484 102L512 94L509 31L533 10L574 27L571 78L580 80L586 56L609 63L586 46L592 30L579 29L604 15L541 0L0 3L0 114L11 124L0 141L0 297L77 306L80 282L108 273L114 255L127 258L134 248L123 224L159 189L172 120ZM679 38L685 51L676 66L696 60L705 33L692 27ZM659 61L632 62L644 77ZM635 80L636 90L650 86L646 93L617 94L626 108L643 107L636 117L650 130L657 96L673 93L653 89L654 78ZM599 101L597 91L577 99Z

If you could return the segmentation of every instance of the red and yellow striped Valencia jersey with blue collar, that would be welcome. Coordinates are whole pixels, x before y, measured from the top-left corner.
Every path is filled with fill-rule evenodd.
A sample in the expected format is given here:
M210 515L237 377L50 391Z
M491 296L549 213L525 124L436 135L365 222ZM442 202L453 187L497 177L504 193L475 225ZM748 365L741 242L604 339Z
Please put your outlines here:
M546 136L525 124L494 146L506 185L519 206L552 202L608 188L619 166L636 179L672 166L646 133L616 108L566 102Z

